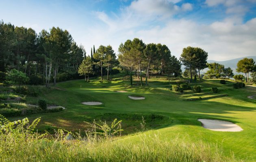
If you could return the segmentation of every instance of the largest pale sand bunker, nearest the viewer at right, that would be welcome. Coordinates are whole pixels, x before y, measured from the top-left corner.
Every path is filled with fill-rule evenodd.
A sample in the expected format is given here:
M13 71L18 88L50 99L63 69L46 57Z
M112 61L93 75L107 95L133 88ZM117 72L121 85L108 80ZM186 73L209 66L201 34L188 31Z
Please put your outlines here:
M216 120L216 119L197 119L202 123L202 126L209 130L221 131L221 132L240 132L243 129L228 121Z

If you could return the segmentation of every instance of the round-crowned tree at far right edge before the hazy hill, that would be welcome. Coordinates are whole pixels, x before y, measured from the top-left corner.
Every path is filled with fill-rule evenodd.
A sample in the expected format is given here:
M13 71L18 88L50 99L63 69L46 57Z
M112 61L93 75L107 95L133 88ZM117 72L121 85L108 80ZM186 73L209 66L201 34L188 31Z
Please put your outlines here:
M244 72L245 76L246 76L246 81L247 83L249 82L249 72L254 71L254 69L256 68L255 62L252 58L248 59L248 58L244 58L243 60L239 60L239 62L237 63L237 68L236 71L237 72Z

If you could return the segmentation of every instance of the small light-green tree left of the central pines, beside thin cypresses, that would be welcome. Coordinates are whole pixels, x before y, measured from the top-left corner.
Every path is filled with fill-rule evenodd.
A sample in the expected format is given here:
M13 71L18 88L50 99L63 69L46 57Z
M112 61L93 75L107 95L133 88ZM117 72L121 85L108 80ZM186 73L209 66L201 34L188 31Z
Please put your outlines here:
M84 60L82 60L82 63L78 67L78 74L85 75L85 81L86 81L86 75L88 75L87 81L89 81L89 74L93 73L93 62L91 61L91 58L88 56Z

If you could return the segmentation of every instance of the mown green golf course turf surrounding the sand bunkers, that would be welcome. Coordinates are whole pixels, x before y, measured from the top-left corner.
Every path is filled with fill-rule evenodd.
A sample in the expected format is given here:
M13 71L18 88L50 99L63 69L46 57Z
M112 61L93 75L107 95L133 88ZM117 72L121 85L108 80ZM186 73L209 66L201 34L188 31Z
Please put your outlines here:
M167 77L156 76L148 80L149 86L139 86L135 80L134 86L129 85L129 78L123 75L111 77L111 81L92 79L58 83L56 88L41 87L39 97L27 97L27 103L36 104L39 99L45 99L50 104L65 107L58 113L34 114L27 116L30 120L41 117L39 130L65 128L67 130L84 130L83 121L123 119L124 134L129 140L136 140L134 133L140 129L141 115L145 117L146 128L157 131L163 138L179 136L184 141L218 143L223 146L225 155L234 152L237 158L247 156L256 159L256 100L247 96L256 94L255 87L233 89L232 82L226 85L219 80L203 80L190 84L200 85L202 93L184 94L172 92L170 84L178 81L168 81ZM218 87L219 92L210 92L212 87ZM120 93L116 91L125 90ZM184 98L213 96L227 94L225 97L198 101L185 101ZM131 100L129 95L144 96L145 100ZM195 96L194 96L195 95ZM100 101L102 105L87 106L85 101ZM11 118L12 120L22 117ZM243 128L241 132L217 132L204 129L198 118L221 119L234 122ZM148 132L145 132L148 133Z

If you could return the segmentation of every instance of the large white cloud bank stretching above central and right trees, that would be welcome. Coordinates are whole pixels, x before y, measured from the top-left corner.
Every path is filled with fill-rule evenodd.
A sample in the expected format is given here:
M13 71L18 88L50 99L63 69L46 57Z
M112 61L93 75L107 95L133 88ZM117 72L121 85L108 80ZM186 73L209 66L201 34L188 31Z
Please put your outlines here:
M162 4L167 1L163 0L162 3L158 1L155 7L152 6L153 3L143 6L140 2L145 2L144 0L135 2L140 7L131 4L124 8L119 16L114 15L113 18L102 12L96 13L103 23L87 30L87 34L80 42L86 49L91 49L93 44L95 48L101 44L111 44L118 53L120 43L137 37L145 43L167 45L172 55L178 58L182 49L187 46L203 48L208 52L210 60L228 60L256 55L256 18L246 23L243 23L243 19L239 16L228 17L210 24L197 23L189 19L174 19L171 16L159 21L157 18L166 13L174 14L172 12L175 11L176 5L164 6ZM188 6L183 4L183 8L187 10L190 9ZM178 10L177 12L181 12L182 7Z

